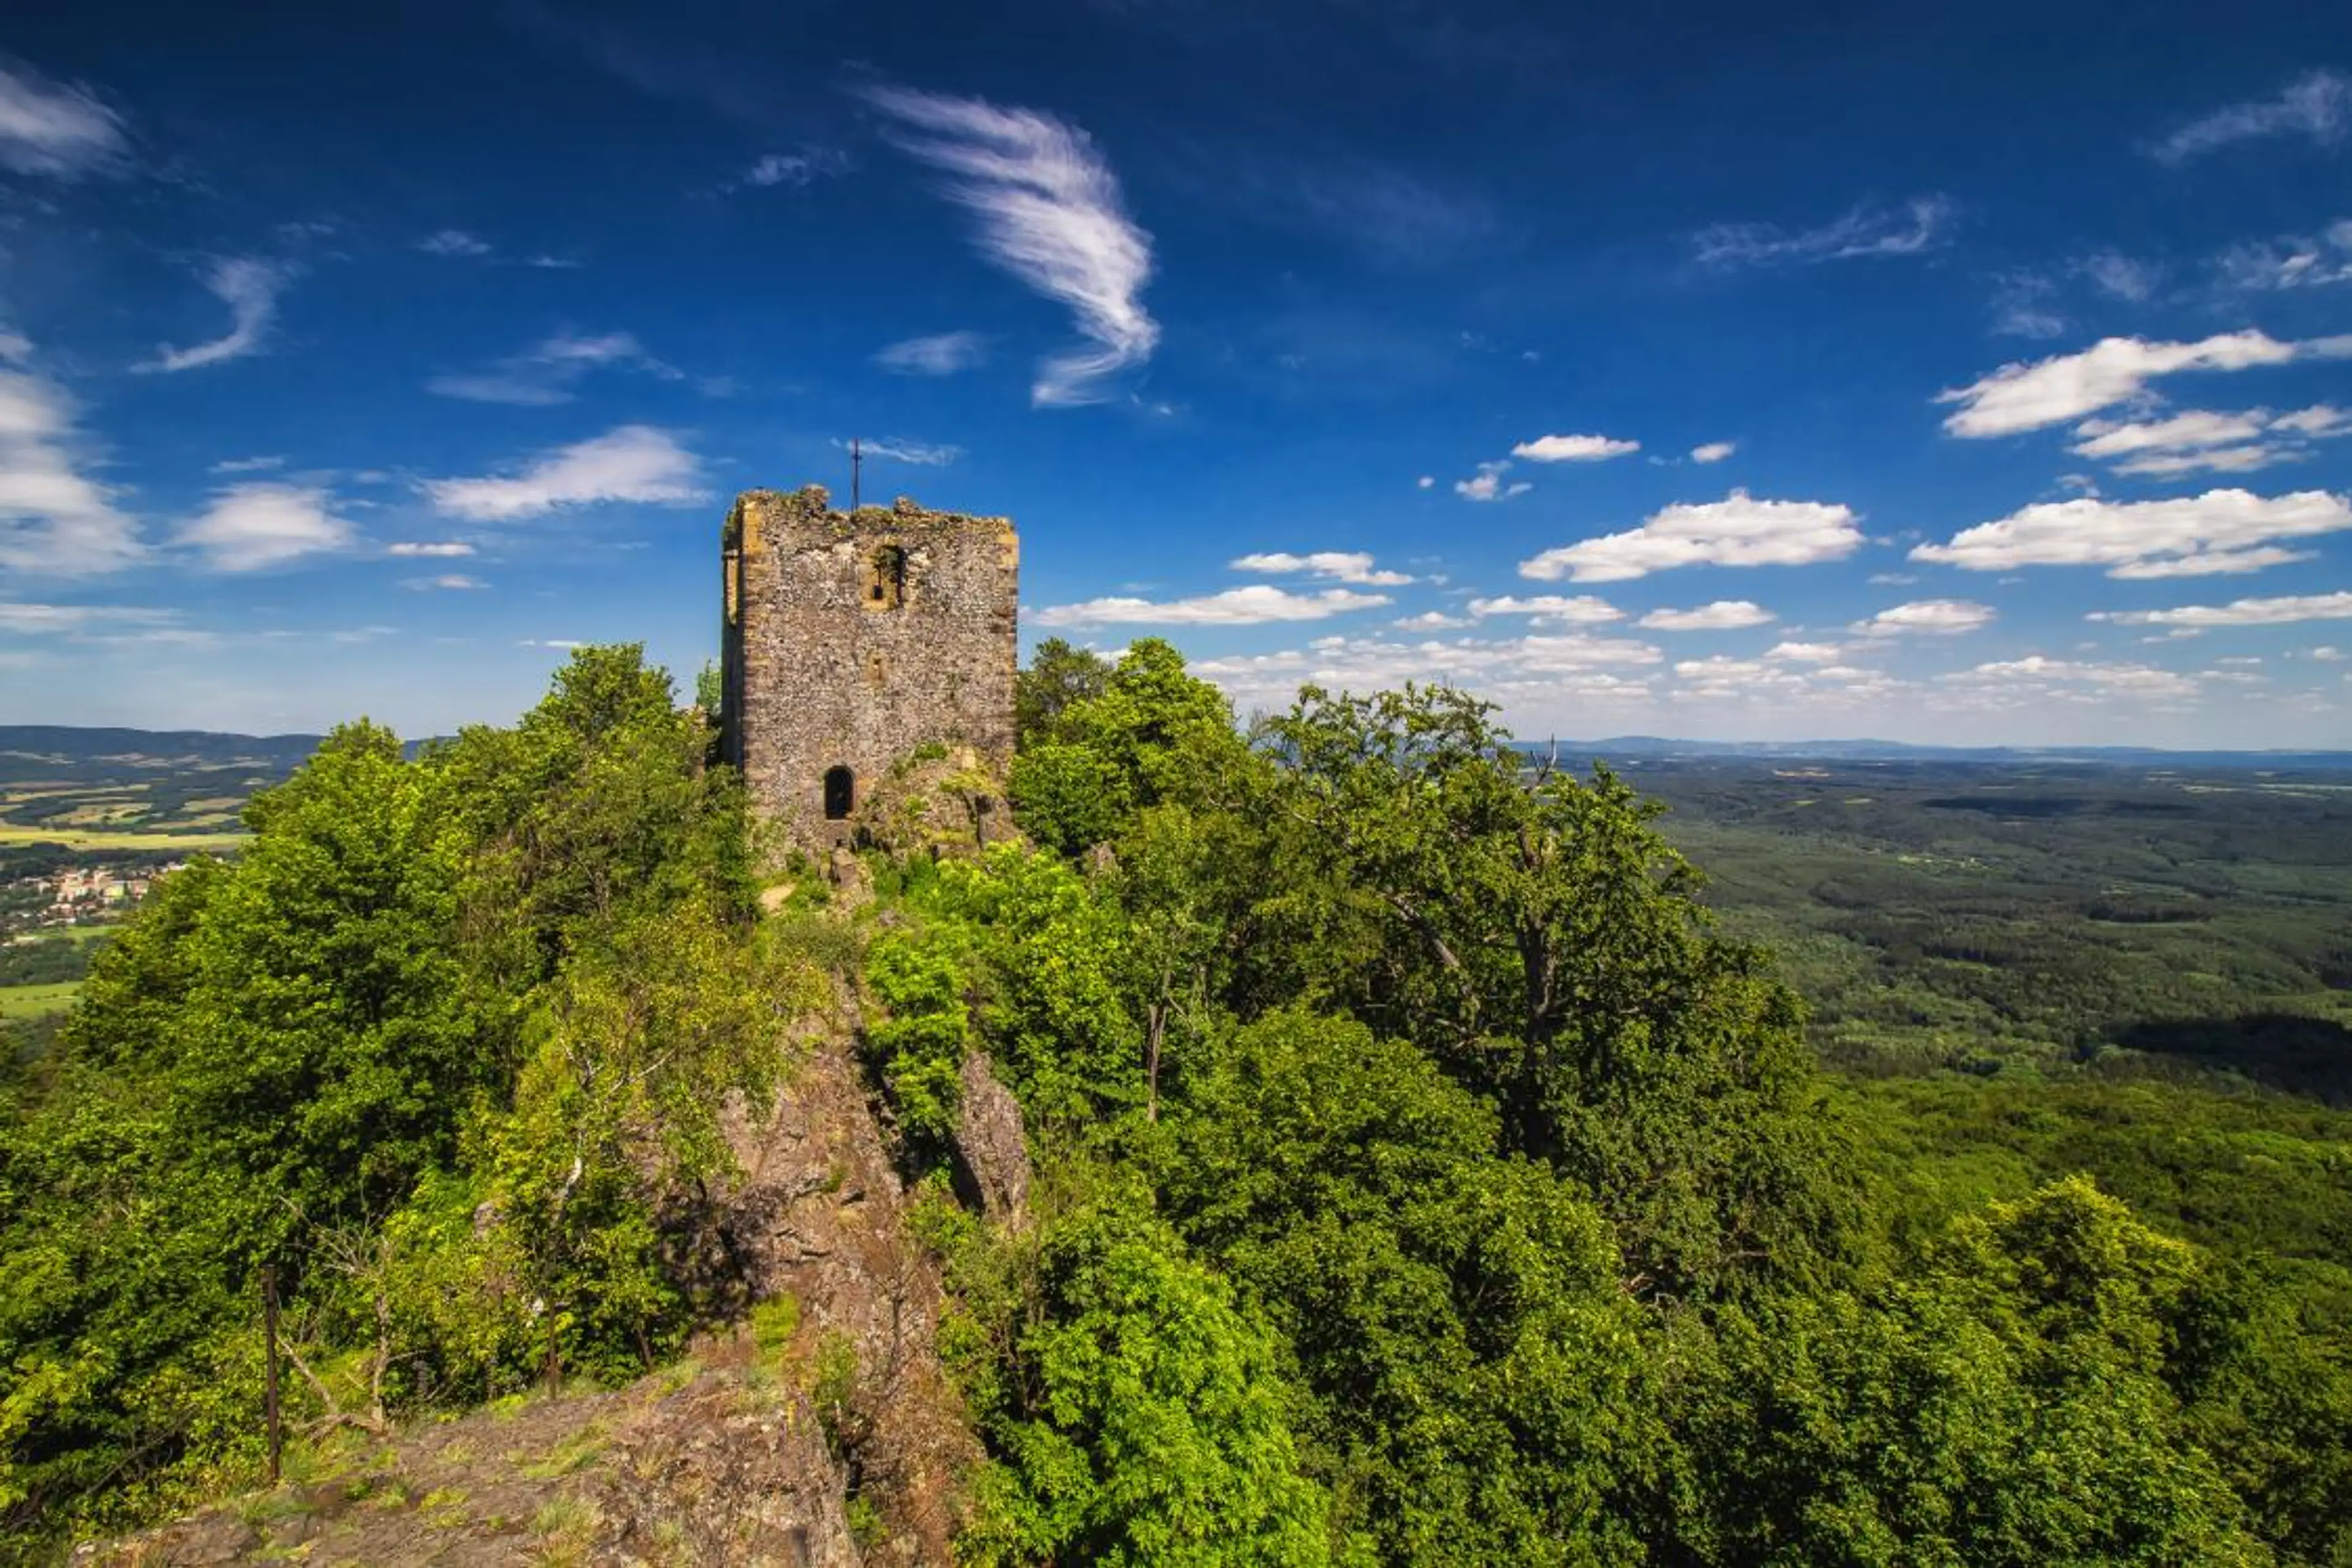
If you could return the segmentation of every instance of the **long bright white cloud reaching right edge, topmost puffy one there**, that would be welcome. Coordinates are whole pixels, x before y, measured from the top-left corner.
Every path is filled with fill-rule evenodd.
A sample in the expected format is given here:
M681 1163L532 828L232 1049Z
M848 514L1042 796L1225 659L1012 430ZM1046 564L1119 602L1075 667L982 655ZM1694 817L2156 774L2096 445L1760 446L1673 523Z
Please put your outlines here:
M2352 336L2279 343L2249 327L2223 331L2197 343L2147 343L2143 339L2100 339L2072 355L2053 355L2032 364L2004 364L1990 376L1936 395L1959 411L1945 416L1952 435L2018 435L2060 425L2114 407L2147 390L2159 376L2180 371L2234 371L2296 360L2343 360L2352 355Z

